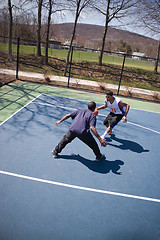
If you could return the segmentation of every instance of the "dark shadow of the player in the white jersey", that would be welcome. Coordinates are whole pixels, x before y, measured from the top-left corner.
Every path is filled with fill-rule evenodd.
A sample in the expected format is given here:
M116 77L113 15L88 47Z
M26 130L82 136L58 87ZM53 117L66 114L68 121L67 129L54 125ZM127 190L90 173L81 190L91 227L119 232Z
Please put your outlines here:
M119 142L120 145L111 143L112 140ZM108 145L111 145L116 148L120 148L122 150L130 150L130 151L136 152L136 153L149 152L148 149L144 149L140 144L130 141L130 140L118 138L115 136L115 134L112 134L110 139L106 139L106 141L108 142Z

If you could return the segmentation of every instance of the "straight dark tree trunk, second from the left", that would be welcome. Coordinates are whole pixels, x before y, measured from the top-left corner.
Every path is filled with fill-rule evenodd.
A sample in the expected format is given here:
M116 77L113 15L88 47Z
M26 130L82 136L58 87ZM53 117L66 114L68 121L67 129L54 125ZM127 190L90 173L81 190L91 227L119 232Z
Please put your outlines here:
M37 56L41 56L41 14L42 14L42 2L38 2L38 27L37 27Z

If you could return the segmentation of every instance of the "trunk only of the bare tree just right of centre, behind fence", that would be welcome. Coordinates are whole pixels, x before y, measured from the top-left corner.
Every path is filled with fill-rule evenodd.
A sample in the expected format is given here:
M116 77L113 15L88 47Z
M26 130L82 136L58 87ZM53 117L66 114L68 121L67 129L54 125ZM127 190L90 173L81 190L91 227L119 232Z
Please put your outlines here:
M107 4L106 23L105 23L105 28L104 28L103 38L102 38L102 48L100 51L99 61L98 61L99 66L102 66L102 58L103 58L104 46L105 46L108 23L109 23L109 6L110 6L110 0L108 0L108 4Z

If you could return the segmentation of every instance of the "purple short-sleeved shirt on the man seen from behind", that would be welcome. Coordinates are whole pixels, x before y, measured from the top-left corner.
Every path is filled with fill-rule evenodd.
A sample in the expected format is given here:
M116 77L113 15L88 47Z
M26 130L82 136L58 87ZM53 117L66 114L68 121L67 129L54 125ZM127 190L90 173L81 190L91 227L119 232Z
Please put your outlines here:
M71 113L73 123L69 130L77 134L89 132L90 127L96 126L96 116L89 109L79 109Z

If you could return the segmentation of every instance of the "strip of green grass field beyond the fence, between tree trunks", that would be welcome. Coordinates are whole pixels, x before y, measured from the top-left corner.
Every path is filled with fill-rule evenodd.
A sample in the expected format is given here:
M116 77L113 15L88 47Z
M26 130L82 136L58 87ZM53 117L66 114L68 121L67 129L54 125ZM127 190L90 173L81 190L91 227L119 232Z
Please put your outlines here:
M8 51L8 44L0 43L0 51ZM12 44L12 51L17 51L17 45ZM28 46L28 45L20 45L20 54L36 54L37 47L36 46ZM45 55L45 48L41 48L42 55ZM49 57L55 57L59 59L66 59L67 50L58 50L58 49L50 49L48 51ZM99 54L95 52L81 52L74 51L73 52L73 61L76 62L98 62ZM111 56L111 55L103 55L103 63L104 64L112 64L117 66L122 66L123 57L120 56ZM143 69L147 71L154 70L154 62L137 60L132 58L126 58L125 67ZM158 72L160 72L160 67L158 67Z

